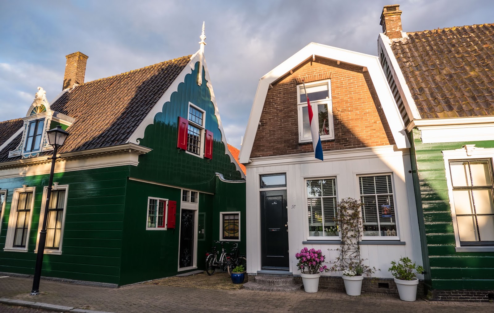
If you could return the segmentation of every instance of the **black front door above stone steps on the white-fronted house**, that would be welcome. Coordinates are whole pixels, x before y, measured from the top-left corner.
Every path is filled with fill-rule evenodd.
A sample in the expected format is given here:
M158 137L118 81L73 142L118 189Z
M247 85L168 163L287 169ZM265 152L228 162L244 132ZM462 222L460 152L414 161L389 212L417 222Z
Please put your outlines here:
M261 268L289 268L287 191L261 192Z

